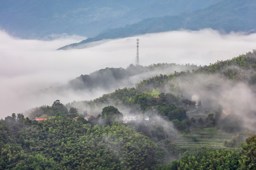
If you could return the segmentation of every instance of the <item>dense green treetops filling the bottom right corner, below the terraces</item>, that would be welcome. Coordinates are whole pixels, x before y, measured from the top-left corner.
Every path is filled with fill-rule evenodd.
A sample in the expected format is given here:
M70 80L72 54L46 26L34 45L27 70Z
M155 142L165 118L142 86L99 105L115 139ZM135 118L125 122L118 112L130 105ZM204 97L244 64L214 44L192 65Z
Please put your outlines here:
M256 168L256 135L249 136L243 151L227 149L201 149L196 152L183 153L179 161L174 160L158 170L255 170Z

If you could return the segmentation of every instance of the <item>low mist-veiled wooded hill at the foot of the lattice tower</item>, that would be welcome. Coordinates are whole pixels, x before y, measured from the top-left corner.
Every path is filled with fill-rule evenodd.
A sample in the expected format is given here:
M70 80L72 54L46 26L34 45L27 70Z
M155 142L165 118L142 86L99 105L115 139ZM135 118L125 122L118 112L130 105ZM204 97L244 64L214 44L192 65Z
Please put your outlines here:
M150 66L134 66L128 68L105 68L81 75L68 82L67 86L73 90L104 89L113 91L118 88L132 87L142 79L147 79L159 74L171 74L174 71L192 71L196 65L178 64L152 64Z

